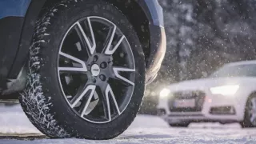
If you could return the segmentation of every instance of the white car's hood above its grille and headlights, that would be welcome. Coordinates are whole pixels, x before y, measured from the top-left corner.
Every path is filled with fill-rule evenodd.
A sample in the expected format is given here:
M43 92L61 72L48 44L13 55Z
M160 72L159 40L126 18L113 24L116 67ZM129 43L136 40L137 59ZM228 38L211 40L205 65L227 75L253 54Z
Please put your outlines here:
M214 86L240 85L246 86L256 82L256 78L202 78L190 81L174 83L169 86L170 90L206 90Z

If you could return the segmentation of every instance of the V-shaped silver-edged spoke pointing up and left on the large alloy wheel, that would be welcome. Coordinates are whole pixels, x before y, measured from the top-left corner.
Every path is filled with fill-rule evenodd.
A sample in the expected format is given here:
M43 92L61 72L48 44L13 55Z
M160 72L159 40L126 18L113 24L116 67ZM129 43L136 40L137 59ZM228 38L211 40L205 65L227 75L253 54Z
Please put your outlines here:
M82 29L82 26L80 24L80 22L76 22L76 25L78 26L78 29L75 29L75 30L78 30L78 35L81 33L82 34L82 41L83 42L86 42L86 46L88 47L89 49L89 52L90 54L94 54L94 51L96 50L96 42L95 42L95 38L94 38L94 30L91 26L91 22L90 22L90 18L87 18L87 21L88 21L88 25L89 25L89 28L90 28L90 35L92 37L92 45L90 43L90 40L89 38L86 36L86 33L85 31Z

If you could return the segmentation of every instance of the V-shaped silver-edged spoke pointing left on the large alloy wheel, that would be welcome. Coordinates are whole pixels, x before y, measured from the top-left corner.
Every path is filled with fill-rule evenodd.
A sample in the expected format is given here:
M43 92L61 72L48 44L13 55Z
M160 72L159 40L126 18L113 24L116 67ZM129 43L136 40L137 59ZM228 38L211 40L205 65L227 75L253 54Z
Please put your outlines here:
M87 72L86 63L83 62L82 60L80 60L78 58L74 58L70 54L65 54L63 52L59 52L59 54L62 55L63 57L66 57L66 58L69 58L69 59L73 60L74 62L78 62L79 64L82 65L82 68L77 68L77 67L58 67L58 71Z

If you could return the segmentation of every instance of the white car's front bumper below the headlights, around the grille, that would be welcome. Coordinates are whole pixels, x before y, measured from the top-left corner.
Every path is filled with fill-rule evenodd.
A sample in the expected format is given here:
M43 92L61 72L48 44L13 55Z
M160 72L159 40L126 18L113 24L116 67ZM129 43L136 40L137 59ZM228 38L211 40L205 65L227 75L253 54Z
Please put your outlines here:
M246 95L232 97L211 94L207 91L200 110L174 110L170 98L160 98L158 112L169 123L179 122L241 122L244 118Z

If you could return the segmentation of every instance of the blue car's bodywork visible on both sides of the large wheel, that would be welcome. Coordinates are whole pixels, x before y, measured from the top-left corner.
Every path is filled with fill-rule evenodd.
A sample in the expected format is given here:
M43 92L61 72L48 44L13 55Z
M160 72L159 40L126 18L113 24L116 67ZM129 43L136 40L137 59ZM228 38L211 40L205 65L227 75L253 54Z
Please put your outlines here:
M58 0L0 1L0 91L18 78L30 49L40 11ZM146 54L146 79L156 77L166 51L162 7L157 0L110 0L133 24Z

